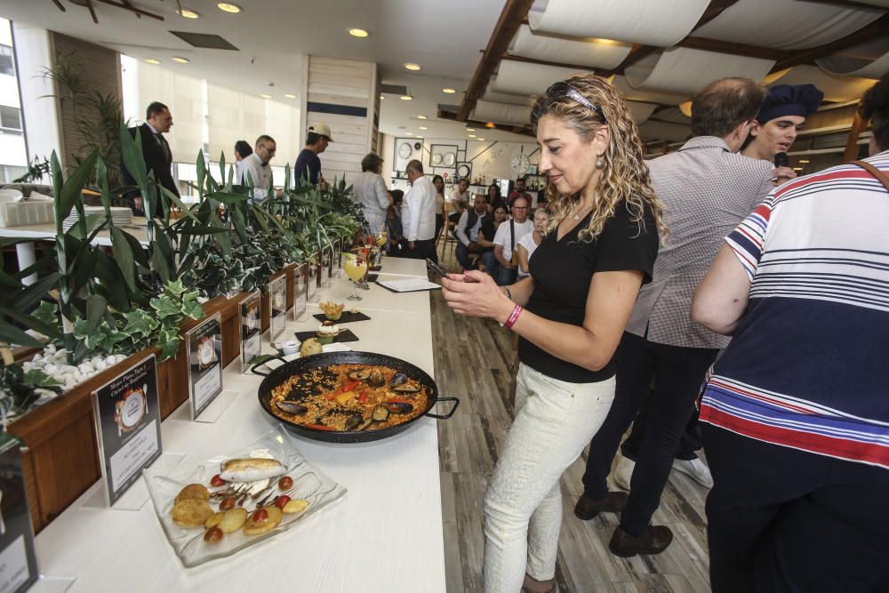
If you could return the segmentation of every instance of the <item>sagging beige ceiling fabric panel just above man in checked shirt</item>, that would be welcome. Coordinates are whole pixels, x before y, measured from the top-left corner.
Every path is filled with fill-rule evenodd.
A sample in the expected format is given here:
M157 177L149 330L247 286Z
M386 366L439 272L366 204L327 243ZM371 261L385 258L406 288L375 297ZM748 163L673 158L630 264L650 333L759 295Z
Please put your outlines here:
M639 60L624 75L635 87L691 94L725 76L760 80L774 64L774 60L673 47Z

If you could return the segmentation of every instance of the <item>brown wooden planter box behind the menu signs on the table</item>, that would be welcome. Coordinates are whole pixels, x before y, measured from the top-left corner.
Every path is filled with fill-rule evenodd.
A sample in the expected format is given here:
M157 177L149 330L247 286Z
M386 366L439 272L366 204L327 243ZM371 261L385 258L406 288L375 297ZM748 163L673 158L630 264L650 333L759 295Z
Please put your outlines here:
M228 365L240 354L237 302L216 297L204 304L208 316L222 319L222 359ZM183 332L196 321L182 325ZM157 365L161 416L166 418L188 400L188 357L182 341L176 357ZM92 414L92 392L113 380L156 348L145 349L67 391L49 404L13 422L9 432L26 445L23 466L34 531L39 532L101 478L99 445Z

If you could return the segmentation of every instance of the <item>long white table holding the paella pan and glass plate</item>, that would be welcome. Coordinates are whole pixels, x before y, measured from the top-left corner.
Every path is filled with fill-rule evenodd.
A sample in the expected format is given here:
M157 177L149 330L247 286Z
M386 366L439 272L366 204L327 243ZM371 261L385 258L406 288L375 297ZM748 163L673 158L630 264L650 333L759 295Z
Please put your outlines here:
M412 260L404 269L420 275L423 265ZM347 282L336 279L332 289L322 290L323 297L348 290ZM378 292L392 294L376 285L362 291L368 299L358 304L365 304L361 309L371 319L348 324L360 341L347 345L404 358L433 374L428 295L416 293L425 309L412 303L414 310L396 311L370 306L379 300ZM302 321L289 321L279 340L314 329L316 319L308 316L316 312L309 307ZM264 350L269 350L268 340ZM239 395L218 421L188 421L188 403L164 421L165 452L186 453L182 463L203 461L251 442L276 424L257 403L261 378L238 373L239 365L236 361L225 371L225 389ZM227 559L184 568L150 501L138 511L84 506L97 485L37 537L41 573L76 577L69 590L91 593L444 591L436 421L423 418L395 437L361 445L293 438L300 452L348 493L290 531Z

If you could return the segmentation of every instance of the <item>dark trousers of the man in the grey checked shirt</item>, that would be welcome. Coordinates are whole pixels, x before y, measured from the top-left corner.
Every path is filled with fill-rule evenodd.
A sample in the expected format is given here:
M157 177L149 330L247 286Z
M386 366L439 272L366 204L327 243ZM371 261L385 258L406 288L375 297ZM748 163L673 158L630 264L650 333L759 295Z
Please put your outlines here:
M683 348L647 341L624 333L617 358L614 402L602 428L589 444L584 493L595 501L608 495L606 478L621 437L629 429L654 381L645 440L630 481L629 501L621 513L621 527L630 535L645 533L661 503L673 465L673 455L685 430L693 402L717 349Z

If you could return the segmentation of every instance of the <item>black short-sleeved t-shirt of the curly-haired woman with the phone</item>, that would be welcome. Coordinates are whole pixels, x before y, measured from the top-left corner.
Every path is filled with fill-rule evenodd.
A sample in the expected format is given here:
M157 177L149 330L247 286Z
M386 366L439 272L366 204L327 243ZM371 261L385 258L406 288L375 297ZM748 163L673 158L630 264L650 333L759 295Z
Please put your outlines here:
M590 212L576 227L557 240L557 229L543 238L529 266L534 292L525 309L550 321L583 325L589 283L596 272L638 270L650 282L658 254L658 228L646 208L642 222L632 220L625 204L605 221L602 232L588 242L578 241L578 233L589 224ZM518 358L553 379L572 383L605 381L614 375L614 359L599 371L589 371L554 357L524 338L518 344Z

